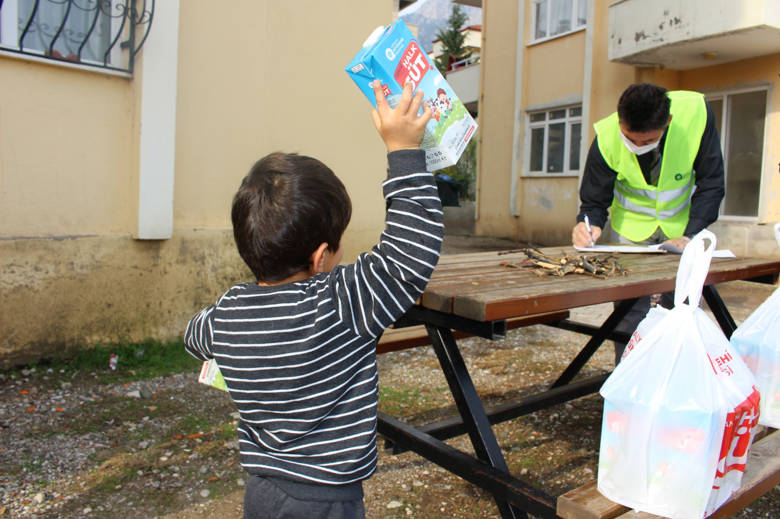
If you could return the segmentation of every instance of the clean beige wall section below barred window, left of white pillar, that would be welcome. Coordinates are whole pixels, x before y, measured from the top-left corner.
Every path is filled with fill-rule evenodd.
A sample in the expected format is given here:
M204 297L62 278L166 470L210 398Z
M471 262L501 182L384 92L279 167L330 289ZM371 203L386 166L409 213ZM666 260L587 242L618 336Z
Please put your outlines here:
M134 84L0 57L0 92L0 236L127 232Z

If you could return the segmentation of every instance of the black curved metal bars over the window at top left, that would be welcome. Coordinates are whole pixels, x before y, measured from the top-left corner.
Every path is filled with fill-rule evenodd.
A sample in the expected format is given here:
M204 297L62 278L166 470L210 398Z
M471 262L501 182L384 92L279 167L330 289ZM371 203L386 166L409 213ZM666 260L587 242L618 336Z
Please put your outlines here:
M152 27L154 4L0 0L0 51L132 74Z

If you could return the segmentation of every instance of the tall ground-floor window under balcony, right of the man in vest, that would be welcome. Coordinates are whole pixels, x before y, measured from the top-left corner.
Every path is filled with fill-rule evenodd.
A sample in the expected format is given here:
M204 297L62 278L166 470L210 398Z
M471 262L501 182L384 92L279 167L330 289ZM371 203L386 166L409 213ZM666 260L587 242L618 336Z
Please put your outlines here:
M764 162L764 122L767 91L729 92L707 97L723 149L726 197L724 216L758 216L761 170Z

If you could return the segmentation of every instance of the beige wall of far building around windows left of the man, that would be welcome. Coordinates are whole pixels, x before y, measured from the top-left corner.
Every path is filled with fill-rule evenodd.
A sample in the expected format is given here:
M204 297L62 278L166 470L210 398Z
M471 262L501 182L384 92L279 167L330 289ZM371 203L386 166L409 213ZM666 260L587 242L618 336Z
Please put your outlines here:
M529 3L524 2L524 29L520 36L523 68L520 84L516 85L520 14L516 11L517 4L496 0L483 3L482 23L486 38L481 56L476 232L543 245L560 244L569 238L570 222L576 215L578 179L523 176L527 147L526 109L561 99L581 98L586 35L585 31L579 31L529 45L531 10ZM513 154L517 168L514 215L510 202Z

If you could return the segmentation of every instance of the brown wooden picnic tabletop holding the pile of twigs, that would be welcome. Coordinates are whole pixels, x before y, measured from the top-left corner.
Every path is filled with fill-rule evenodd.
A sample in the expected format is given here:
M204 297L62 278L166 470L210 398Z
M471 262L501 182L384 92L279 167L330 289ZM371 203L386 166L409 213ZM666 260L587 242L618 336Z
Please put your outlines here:
M581 254L572 247L550 247L542 252L547 256ZM627 276L607 279L575 274L540 277L531 269L502 265L520 265L525 259L521 251L442 256L421 305L477 321L493 321L674 290L679 255L614 256L629 270ZM776 275L778 269L780 260L777 259L713 258L705 284Z

